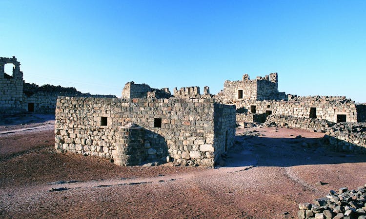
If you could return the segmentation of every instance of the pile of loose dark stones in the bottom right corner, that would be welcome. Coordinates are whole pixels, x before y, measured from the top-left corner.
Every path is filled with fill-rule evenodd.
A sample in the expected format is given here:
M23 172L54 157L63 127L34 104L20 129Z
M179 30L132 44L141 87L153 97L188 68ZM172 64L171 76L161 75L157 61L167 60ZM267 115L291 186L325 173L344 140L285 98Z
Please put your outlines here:
M299 219L366 219L366 184L357 189L330 190L314 203L300 203Z

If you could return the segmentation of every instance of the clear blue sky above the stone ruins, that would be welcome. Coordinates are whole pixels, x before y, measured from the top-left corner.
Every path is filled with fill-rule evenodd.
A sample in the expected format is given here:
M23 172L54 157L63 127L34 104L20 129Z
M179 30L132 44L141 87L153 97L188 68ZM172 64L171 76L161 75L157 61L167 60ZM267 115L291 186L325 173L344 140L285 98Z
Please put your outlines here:
M279 73L279 90L366 102L366 1L0 0L24 79L121 96Z

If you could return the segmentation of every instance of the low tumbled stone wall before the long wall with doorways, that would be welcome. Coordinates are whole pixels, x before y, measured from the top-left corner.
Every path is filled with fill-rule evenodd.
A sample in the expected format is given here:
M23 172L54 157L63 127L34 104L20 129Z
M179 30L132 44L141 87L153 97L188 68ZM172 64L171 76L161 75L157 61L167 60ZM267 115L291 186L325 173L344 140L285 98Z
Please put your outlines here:
M326 132L327 128L334 123L322 119L297 118L285 115L269 115L264 126L287 126L291 128L301 128L312 132Z

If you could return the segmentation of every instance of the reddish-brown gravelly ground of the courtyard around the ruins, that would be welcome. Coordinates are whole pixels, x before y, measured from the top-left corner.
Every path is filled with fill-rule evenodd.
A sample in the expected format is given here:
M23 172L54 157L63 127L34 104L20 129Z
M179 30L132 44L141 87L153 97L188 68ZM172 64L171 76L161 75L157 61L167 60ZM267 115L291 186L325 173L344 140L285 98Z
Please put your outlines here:
M0 124L0 218L296 218L299 202L366 183L365 155L322 133L239 128L221 166L124 167L56 153L54 118L36 117Z

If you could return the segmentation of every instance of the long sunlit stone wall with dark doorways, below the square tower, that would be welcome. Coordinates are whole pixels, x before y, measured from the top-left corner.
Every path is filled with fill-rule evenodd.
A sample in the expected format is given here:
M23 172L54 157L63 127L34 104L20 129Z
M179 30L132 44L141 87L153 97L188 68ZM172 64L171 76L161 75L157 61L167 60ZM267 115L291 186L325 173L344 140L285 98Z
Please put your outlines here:
M357 122L354 101L345 97L310 96L296 97L288 101L236 101L237 110L244 113L290 115L298 118L318 118L330 122ZM342 118L340 118L342 117Z

